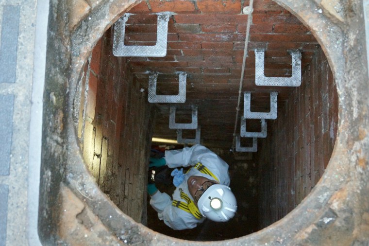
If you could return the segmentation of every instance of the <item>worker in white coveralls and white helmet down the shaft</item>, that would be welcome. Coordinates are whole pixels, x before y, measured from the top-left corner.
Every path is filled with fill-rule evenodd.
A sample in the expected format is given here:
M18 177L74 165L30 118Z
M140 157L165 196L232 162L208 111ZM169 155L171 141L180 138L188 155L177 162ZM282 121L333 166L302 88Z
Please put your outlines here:
M237 203L229 188L228 164L208 148L196 144L180 150L166 150L163 158L151 158L150 167L169 168L192 166L172 172L176 189L173 199L148 184L150 205L158 217L175 230L195 228L205 218L226 222L235 216Z

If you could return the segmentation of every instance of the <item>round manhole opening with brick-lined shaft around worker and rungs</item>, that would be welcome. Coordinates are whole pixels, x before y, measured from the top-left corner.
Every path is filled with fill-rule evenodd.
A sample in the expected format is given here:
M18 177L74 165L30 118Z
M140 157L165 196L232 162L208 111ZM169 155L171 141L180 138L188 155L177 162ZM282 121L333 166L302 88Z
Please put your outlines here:
M151 8L155 6L154 1L149 3ZM193 4L192 1L186 3ZM136 7L142 9L145 4L142 2ZM197 8L201 8L199 4ZM211 6L221 8L219 4L214 1ZM243 2L239 4L241 7ZM267 48L265 74L285 77L290 74L286 50L298 47L302 50L302 85L298 88L256 87L252 76L254 57L248 57L243 90L252 91L252 111L268 112L269 93L278 92L278 118L267 120L268 136L258 139L258 150L252 154L234 155L229 151L242 65L242 37L246 32L244 20L247 19L239 11L222 10L224 12L217 11L215 15L213 10L208 10L208 14L201 16L198 9L189 8L177 13L169 21L168 53L163 58L113 56L112 28L95 46L81 76L78 137L86 165L101 191L136 222L187 240L232 239L283 218L300 204L322 176L333 150L338 121L337 92L327 58L315 38L289 12L277 4L267 9L258 7L260 9L255 8L253 13L249 53L253 53L255 47ZM148 13L137 11L136 14L147 20ZM213 18L224 19L224 22L214 22ZM283 22L279 23L281 19ZM141 25L153 24L147 21ZM151 27L141 26L140 33L156 32ZM147 101L148 71L189 74L186 104L201 104L201 144L230 165L231 188L238 202L237 215L230 222L207 221L198 229L173 231L159 221L150 208L145 193L150 149L181 148L182 145L151 145L152 136L168 140L175 140L177 136L175 129L168 128L168 105L153 105ZM158 84L162 94L178 93L178 85L173 85L172 80L176 79ZM257 125L260 121L248 120L247 123L250 124L247 130L260 131ZM241 144L249 146L252 141L242 140ZM166 190L165 187L159 189Z

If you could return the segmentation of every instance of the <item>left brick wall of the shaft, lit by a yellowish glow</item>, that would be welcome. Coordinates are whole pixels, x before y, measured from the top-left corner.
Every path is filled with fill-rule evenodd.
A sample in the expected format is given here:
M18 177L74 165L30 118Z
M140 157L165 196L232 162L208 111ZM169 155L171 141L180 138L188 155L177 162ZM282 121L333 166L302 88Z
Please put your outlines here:
M132 82L126 58L112 54L112 44L109 29L84 69L82 91L87 91L81 97L78 136L101 190L120 210L146 223L144 163L150 153L153 114L147 97Z

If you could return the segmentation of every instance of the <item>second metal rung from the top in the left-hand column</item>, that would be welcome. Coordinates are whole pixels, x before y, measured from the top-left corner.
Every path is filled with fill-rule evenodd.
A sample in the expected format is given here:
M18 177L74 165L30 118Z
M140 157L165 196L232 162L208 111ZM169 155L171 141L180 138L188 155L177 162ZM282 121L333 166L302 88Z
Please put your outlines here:
M179 104L186 102L186 78L185 72L179 73L178 95L156 95L157 73L149 76L149 103L171 103Z

